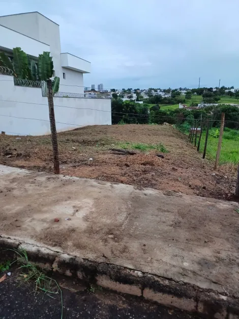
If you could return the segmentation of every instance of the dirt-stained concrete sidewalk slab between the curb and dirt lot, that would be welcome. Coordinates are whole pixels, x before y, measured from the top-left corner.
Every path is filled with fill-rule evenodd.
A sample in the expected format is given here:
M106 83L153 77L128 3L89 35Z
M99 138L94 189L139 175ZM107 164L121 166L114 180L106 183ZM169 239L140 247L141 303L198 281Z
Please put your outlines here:
M237 203L5 166L0 175L1 235L238 296Z

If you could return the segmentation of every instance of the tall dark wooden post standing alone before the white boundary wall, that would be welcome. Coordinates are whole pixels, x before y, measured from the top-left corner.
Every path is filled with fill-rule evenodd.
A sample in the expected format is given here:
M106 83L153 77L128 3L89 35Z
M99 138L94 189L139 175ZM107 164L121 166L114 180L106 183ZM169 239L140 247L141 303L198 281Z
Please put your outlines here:
M50 128L51 128L51 142L52 142L52 149L53 149L54 174L59 174L59 155L58 155L56 127L55 127L55 114L54 114L54 102L53 102L51 79L47 80L47 98L48 98L49 119L50 119Z

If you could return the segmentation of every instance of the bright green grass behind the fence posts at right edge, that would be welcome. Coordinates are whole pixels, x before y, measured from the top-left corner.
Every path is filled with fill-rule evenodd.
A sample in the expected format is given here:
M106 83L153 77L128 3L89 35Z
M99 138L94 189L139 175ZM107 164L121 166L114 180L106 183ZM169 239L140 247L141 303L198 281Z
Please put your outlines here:
M210 132L214 134L216 128L210 129ZM205 132L202 132L202 138L200 143L200 151L203 152L205 142ZM206 157L215 159L218 148L218 138L213 135L208 135ZM222 148L220 154L220 164L239 162L239 131L235 129L225 128L222 138Z

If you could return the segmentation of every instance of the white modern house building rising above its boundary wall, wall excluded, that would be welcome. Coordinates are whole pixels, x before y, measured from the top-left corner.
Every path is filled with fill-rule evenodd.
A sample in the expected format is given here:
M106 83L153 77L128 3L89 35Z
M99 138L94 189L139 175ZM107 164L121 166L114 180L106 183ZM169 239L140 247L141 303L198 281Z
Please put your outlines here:
M14 47L36 60L43 51L50 51L54 75L60 78L59 91L84 93L83 73L91 72L91 63L62 52L57 23L39 12L0 16L0 50L11 57Z

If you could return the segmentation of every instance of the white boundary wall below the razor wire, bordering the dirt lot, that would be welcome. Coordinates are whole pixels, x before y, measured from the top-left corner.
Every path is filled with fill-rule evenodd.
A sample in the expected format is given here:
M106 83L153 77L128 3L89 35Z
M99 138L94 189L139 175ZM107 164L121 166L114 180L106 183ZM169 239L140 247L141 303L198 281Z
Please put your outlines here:
M0 81L0 131L6 131L6 134L49 134L47 97L42 96L41 88L14 86L13 77L8 75L0 75ZM79 125L111 124L110 99L55 97L54 110L57 131Z

